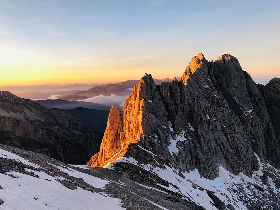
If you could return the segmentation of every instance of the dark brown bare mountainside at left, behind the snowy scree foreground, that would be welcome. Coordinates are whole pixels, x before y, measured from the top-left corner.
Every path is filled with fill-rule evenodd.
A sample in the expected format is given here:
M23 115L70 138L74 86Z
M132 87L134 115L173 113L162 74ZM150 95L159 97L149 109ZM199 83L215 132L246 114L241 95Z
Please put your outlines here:
M0 91L0 143L85 164L100 138L73 116Z

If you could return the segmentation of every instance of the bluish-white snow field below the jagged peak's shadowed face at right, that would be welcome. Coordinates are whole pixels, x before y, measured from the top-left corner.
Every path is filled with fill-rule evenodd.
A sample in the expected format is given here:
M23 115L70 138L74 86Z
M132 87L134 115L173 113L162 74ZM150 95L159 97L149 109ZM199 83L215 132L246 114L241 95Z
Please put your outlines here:
M172 142L172 140L171 140ZM175 140L173 140L175 142ZM258 171L253 172L253 176L262 176L263 172L263 163L260 162L260 159L257 157L260 167ZM123 160L120 160L123 161ZM192 200L194 203L203 206L206 209L215 209L213 206L212 199L208 196L207 190L214 192L215 196L220 198L225 205L231 204L235 209L247 209L243 201L245 199L250 199L255 201L258 196L271 196L269 193L269 188L263 185L261 182L257 182L254 178L251 179L246 175L240 173L239 175L233 175L222 166L219 167L219 177L214 180L208 180L199 175L197 169L182 173L181 171L173 168L170 164L164 165L165 167L154 167L150 164L144 165L133 159L132 157L126 158L124 161L130 163L135 163L138 166L141 166L145 170L150 171L151 173L161 177L162 179L168 181L169 187L157 184L162 188L168 189L170 191L176 192L182 195L183 199ZM269 166L269 164L266 164ZM270 166L272 167L272 166ZM274 168L273 168L274 169ZM274 169L280 175L280 171ZM181 174L181 175L180 175ZM184 178L183 178L184 177ZM272 184L272 179L269 179L270 187L273 188L275 193L279 193L279 189ZM254 184L258 184L265 189L264 192L260 192L257 189L254 189ZM195 184L196 189L192 187ZM176 187L174 187L176 186ZM244 189L244 191L240 191ZM277 190L277 191L276 191ZM254 191L252 193L252 191ZM257 194L257 197L254 195Z

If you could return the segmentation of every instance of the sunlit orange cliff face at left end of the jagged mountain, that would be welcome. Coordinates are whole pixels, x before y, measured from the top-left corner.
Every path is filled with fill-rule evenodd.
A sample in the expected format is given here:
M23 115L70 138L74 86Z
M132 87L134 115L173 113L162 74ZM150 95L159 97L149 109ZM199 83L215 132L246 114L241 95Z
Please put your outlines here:
M124 156L128 145L138 141L143 133L141 98L143 83L142 78L139 85L133 88L132 95L128 96L121 112L112 106L100 152L92 157L88 165L105 166L108 162Z

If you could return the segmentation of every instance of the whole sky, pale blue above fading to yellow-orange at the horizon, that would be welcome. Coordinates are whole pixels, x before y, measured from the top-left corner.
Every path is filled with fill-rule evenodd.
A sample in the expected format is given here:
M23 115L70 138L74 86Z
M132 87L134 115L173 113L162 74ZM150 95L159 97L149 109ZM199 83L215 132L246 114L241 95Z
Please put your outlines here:
M280 77L280 1L0 0L0 86L180 77L235 56Z

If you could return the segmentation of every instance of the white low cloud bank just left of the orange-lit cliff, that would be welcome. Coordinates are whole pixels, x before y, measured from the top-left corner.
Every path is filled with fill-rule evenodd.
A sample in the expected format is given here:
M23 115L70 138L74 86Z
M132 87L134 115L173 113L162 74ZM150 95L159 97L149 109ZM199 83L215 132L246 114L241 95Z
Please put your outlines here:
M118 108L122 108L124 105L124 101L126 99L127 99L127 96L117 96L117 95L111 94L111 96L103 96L103 95L94 96L92 98L87 98L82 101L94 102L94 103L110 105L110 106L114 105Z

